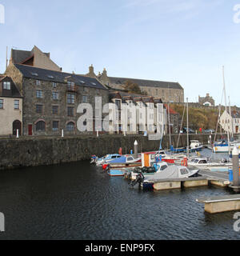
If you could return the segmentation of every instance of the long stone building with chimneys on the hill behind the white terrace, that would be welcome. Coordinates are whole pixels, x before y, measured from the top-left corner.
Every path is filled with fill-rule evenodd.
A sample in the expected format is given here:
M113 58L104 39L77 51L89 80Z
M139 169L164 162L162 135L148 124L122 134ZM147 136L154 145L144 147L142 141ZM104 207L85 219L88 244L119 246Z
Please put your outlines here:
M145 93L154 98L162 98L162 102L184 102L184 89L178 82L162 82L143 80L135 78L113 78L107 75L106 69L102 74L94 74L94 66L90 66L89 73L86 74L91 78L98 78L103 85L115 90L123 90L126 81L138 84L142 93Z

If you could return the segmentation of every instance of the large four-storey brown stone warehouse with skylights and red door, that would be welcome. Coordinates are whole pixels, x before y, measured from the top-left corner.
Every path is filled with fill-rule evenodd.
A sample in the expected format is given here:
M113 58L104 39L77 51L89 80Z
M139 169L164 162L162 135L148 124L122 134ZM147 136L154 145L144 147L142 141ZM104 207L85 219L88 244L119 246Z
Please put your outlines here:
M85 109L77 113L79 104L89 103L95 117L95 97L102 97L102 106L109 102L108 90L95 78L20 64L10 64L6 75L23 96L24 135L59 135L62 130L65 134L81 134L77 123ZM93 122L93 131L94 117L86 120L86 126Z

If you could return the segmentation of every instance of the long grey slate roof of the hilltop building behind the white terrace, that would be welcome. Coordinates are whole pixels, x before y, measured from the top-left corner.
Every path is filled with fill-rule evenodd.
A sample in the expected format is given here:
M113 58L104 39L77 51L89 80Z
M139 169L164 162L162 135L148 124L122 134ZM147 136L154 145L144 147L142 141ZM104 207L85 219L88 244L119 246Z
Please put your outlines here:
M113 78L109 77L110 82L117 85L124 84L127 80L137 83L138 86L156 87L156 88L170 88L170 89L180 89L183 90L182 86L178 82L163 82L154 80L143 80L135 78Z

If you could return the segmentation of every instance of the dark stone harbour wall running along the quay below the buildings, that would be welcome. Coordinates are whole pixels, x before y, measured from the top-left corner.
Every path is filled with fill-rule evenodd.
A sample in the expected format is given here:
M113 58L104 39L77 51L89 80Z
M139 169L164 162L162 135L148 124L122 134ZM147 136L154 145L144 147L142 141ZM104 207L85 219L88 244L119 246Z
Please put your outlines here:
M194 134L190 135L190 139L207 144L209 135ZM160 146L159 140L150 141L148 137L141 135L100 135L98 138L1 138L0 170L89 160L93 154L103 156L118 153L120 147L122 154L130 154L130 150L134 150L135 140L138 141L139 152L158 150ZM172 144L177 146L178 135L172 135L171 140ZM180 136L178 146L186 146L186 134ZM170 138L167 135L162 139L162 148L170 148Z

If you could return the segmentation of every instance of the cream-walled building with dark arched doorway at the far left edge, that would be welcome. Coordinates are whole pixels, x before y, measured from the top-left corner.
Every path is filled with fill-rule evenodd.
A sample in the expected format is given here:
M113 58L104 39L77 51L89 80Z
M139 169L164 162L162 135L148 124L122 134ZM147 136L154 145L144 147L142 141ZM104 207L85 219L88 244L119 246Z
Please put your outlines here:
M22 134L22 95L13 80L0 76L0 135Z

